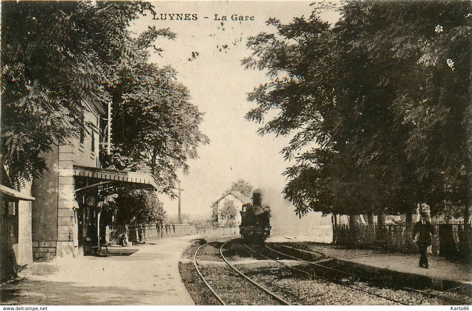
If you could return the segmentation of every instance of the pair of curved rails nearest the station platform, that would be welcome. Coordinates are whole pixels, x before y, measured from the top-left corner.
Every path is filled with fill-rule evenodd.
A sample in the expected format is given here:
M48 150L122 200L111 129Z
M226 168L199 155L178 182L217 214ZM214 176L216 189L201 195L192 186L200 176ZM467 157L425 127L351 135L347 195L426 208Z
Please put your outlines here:
M221 303L222 305L227 305L227 303L225 302L225 300L221 297L221 295L219 295L217 293L217 291L213 288L213 286L210 285L210 283L207 281L207 279L203 276L202 274L202 271L198 268L198 262L197 262L197 254L198 252L204 247L204 246L209 246L211 245L212 243L216 243L216 242L221 242L222 240L226 240L228 238L220 238L220 239L216 239L216 240L213 240L211 242L208 242L208 243L205 243L203 244L202 246L198 247L195 251L195 254L194 254L194 267L198 273L198 275L200 276L200 278L202 279L203 283L205 283L205 285L209 288L209 290L211 291L211 293L215 296L215 298L219 301L219 303ZM236 239L236 238L229 238L230 241ZM267 295L269 295L272 299L274 299L275 301L277 301L278 303L282 304L282 305L290 305L289 302L287 302L286 300L284 300L282 297L272 293L269 289L267 289L266 287L258 284L257 282L255 282L253 279L247 277L243 272L241 272L240 270L237 270L229 261L228 259L223 255L223 248L224 246L226 246L230 241L227 241L225 243L223 243L220 248L219 248L219 254L220 254L220 257L221 259L223 259L223 261L228 265L229 268L231 268L233 271L235 271L238 275L240 275L242 278L244 278L245 280L249 281L253 286L257 286L257 288L261 289L264 293L266 293Z

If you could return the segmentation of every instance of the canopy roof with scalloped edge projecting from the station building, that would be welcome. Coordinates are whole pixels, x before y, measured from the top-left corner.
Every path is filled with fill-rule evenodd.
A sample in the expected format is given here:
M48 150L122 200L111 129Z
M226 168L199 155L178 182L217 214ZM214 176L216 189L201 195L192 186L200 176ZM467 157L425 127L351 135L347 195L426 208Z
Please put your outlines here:
M74 165L76 194L98 194L100 198L111 194L136 190L157 190L157 180L152 174L108 170L90 166Z

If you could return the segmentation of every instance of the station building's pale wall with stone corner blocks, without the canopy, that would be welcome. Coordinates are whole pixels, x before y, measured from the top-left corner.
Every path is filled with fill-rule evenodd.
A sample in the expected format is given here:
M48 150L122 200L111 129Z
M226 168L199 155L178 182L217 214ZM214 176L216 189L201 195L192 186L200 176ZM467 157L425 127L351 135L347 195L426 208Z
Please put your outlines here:
M89 111L85 122L99 124L99 115L86 104ZM49 172L34 180L33 203L33 257L52 259L78 254L78 220L75 208L74 165L97 167L99 164L99 134L84 133L82 139L71 139L70 145L53 146L47 155Z

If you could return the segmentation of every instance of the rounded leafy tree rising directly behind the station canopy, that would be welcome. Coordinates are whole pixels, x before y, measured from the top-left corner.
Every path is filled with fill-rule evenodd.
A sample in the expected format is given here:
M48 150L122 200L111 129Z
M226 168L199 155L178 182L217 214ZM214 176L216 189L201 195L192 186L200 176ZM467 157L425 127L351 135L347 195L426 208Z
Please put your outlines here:
M139 64L125 72L112 90L113 148L107 166L152 173L161 191L174 195L177 168L188 172L187 158L209 139L199 126L202 113L189 103L185 86L175 82L175 71Z

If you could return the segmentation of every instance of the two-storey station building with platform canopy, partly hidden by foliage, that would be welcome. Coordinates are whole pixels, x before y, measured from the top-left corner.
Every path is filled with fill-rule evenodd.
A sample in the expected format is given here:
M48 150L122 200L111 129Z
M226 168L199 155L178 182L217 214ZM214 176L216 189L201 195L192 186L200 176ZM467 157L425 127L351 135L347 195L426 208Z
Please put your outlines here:
M49 169L33 181L32 253L34 259L76 257L84 247L99 247L101 201L134 189L158 188L151 174L100 167L100 144L110 148L111 106L84 102L84 122L98 131L80 133L69 145L51 146L43 157Z

